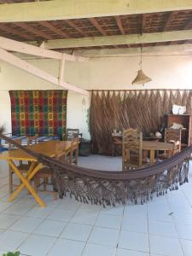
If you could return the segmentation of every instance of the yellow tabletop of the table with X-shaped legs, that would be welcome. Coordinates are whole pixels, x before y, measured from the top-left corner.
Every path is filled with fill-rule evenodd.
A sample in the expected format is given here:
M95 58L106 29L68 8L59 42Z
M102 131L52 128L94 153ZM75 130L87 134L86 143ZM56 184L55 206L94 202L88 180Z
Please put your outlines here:
M44 142L44 143L34 144L34 145L31 145L31 146L28 146L27 148L30 148L30 149L32 149L33 151L35 151L39 154L45 154L45 155L48 155L50 157L54 157L55 156L55 148L56 148L57 143L60 143L60 141L53 140L53 141L47 141L47 142ZM65 141L65 143L66 143L66 150L67 150L71 147L72 142L71 141ZM25 151L23 151L20 148L3 152L2 154L0 154L0 160L1 159L27 160L27 161L36 160L32 155L27 154Z

